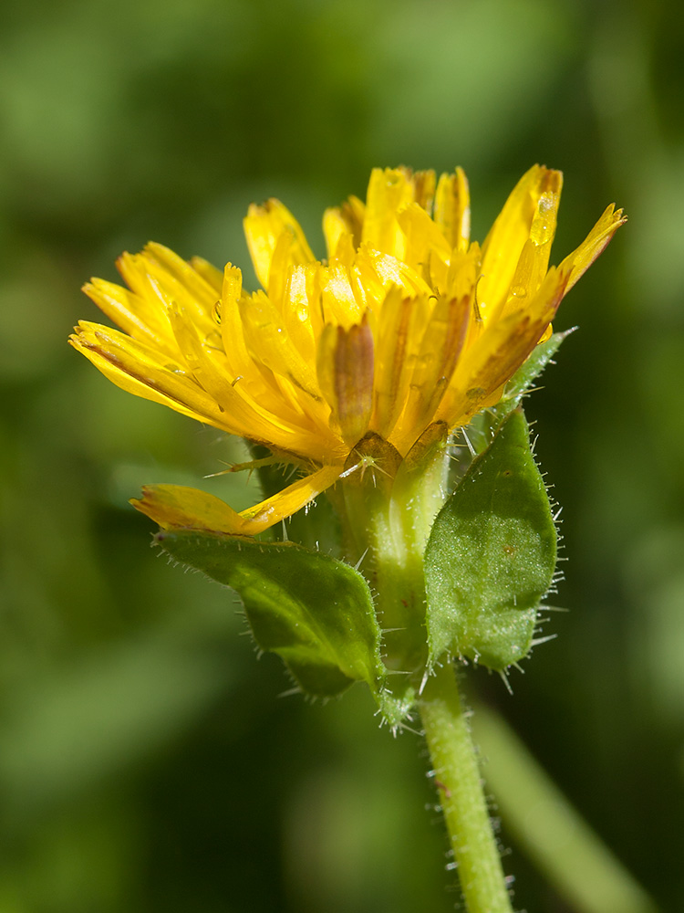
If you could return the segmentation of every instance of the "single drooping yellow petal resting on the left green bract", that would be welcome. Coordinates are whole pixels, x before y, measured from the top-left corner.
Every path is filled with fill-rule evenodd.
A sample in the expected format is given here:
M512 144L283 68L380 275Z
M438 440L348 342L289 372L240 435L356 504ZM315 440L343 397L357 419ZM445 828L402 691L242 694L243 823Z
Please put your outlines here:
M254 536L291 517L337 482L342 467L323 467L310 476L237 513L221 498L182 485L146 485L131 504L162 530L202 530L220 535Z

